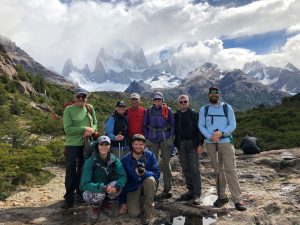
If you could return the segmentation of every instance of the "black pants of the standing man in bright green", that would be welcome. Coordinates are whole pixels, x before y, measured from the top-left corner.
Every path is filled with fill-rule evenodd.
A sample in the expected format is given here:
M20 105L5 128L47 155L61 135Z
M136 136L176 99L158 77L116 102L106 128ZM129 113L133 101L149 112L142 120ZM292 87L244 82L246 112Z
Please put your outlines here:
M64 195L65 202L73 204L75 192L77 196L82 196L79 189L83 166L83 148L84 146L66 146L66 178Z

